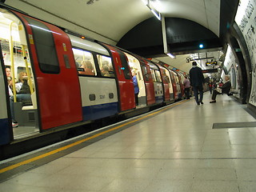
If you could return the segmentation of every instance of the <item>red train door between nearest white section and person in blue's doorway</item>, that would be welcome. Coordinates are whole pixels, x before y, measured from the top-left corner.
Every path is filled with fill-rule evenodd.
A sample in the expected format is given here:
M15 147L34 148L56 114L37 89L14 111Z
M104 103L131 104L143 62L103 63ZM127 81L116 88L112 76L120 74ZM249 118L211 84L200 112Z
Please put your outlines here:
M107 45L105 45L107 46ZM130 74L130 67L124 54L121 50L113 46L107 46L113 57L114 68L118 79L119 91L119 107L120 111L130 110L135 108L134 100L134 83Z

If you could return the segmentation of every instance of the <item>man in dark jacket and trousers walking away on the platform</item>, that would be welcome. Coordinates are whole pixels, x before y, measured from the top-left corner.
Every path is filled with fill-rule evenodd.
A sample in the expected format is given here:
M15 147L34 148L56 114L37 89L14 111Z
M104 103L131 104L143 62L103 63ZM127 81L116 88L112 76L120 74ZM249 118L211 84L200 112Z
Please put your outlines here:
M192 62L192 68L190 69L190 85L193 87L194 99L199 106L200 103L203 104L203 84L205 83L205 78L203 77L202 69L197 65L197 62ZM198 92L200 94L199 99Z

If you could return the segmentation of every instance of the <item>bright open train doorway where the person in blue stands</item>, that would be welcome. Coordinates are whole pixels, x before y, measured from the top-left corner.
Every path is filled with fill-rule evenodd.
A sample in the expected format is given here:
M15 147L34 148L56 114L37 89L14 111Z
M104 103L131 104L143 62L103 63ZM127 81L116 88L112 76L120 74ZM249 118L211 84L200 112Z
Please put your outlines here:
M128 63L130 66L130 70L134 71L136 74L137 82L138 82L138 106L146 106L146 86L142 74L142 68L140 66L140 62L137 58L134 58L131 54L126 54L128 58ZM134 93L134 91L133 91Z

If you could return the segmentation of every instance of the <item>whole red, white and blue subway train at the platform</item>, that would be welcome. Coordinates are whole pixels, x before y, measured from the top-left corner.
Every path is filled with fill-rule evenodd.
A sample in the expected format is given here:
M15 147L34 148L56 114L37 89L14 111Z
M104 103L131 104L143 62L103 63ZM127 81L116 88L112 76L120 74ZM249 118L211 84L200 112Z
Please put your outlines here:
M6 146L40 134L184 98L185 74L166 64L85 38L2 4L0 25L2 154ZM138 105L132 71L138 82ZM30 87L26 93L30 99L20 98L19 82Z

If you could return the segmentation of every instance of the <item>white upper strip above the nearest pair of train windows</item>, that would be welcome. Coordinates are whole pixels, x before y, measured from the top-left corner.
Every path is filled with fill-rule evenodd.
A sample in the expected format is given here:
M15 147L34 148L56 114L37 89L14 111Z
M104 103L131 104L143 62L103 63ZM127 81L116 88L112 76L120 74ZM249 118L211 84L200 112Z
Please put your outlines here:
M76 46L76 47L82 48L84 50L92 50L99 54L110 55L109 52L103 46L99 45L96 42L91 42L86 39L78 38L74 35L70 35L70 34L68 34L68 35L70 37L72 46Z

